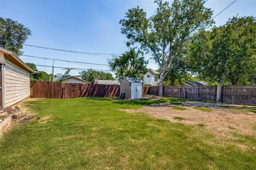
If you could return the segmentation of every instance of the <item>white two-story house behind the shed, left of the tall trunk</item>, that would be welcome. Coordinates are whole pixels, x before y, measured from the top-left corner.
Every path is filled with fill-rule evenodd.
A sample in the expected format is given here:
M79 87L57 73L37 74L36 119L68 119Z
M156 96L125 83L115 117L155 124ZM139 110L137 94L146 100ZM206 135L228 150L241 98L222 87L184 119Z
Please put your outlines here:
M148 72L143 75L144 79L144 86L158 86L159 79L158 79L159 72L148 69Z

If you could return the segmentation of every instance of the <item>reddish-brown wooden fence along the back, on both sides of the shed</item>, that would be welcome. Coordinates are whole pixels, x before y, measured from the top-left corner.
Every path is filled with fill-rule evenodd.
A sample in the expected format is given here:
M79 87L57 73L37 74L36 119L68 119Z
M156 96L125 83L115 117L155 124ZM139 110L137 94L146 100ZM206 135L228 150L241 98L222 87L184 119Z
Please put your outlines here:
M107 84L59 83L35 81L31 84L31 98L119 97L120 87ZM149 87L144 87L148 94Z

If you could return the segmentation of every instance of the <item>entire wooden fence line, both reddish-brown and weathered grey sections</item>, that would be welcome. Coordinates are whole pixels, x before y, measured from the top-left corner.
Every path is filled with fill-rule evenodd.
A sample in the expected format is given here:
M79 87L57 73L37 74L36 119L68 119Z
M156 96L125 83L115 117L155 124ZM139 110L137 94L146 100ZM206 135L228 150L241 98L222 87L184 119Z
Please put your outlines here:
M32 98L118 97L120 87L106 84L82 84L36 81ZM155 95L158 86L144 87L144 95ZM215 101L217 86L164 86L163 96ZM256 86L222 86L221 101L256 105Z

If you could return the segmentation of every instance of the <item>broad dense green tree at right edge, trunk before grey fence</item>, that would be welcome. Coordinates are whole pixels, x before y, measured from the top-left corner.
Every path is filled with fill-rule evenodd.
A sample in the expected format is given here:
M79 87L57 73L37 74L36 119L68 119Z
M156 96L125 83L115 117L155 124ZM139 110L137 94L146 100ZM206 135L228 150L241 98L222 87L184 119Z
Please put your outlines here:
M255 74L256 22L253 16L229 19L225 25L199 31L191 40L188 60L204 79L218 82L217 101L225 78L232 84Z

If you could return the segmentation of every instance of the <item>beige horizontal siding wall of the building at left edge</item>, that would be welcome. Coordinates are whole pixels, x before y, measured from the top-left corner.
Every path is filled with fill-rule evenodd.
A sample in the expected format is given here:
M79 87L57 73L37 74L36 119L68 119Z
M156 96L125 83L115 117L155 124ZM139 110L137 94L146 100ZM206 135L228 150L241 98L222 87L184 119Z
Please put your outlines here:
M9 60L5 60L5 107L11 106L30 95L29 74Z

